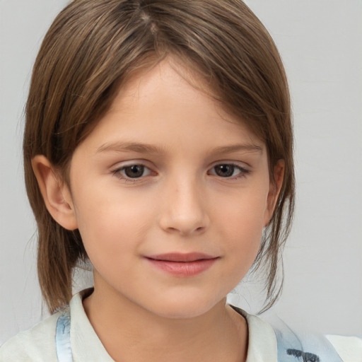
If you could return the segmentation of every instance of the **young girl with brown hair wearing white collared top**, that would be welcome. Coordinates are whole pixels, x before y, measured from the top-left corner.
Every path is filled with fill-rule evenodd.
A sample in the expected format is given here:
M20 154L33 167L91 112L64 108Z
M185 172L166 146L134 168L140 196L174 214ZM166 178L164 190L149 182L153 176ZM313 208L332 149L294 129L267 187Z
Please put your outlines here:
M286 76L241 1L73 1L42 44L26 117L54 314L0 361L360 358L358 339L300 341L226 305L251 267L267 273L265 309L278 297L294 201ZM88 260L94 288L72 297Z

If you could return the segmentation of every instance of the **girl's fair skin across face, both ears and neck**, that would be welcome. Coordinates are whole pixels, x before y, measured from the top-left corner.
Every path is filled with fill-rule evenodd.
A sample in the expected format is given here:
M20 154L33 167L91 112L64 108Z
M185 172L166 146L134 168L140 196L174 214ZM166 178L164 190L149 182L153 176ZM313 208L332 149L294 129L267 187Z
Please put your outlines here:
M274 185L262 141L175 64L122 87L76 148L70 187L44 156L33 168L54 219L81 233L95 286L83 305L115 361L245 361L226 295L257 255L283 163Z

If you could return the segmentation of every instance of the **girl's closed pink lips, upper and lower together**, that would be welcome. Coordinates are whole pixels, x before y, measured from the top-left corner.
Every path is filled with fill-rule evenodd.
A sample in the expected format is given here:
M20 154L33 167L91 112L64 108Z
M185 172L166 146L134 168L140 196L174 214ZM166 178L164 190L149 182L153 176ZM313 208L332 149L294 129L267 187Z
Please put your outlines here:
M148 255L146 259L158 269L167 271L174 276L187 277L200 274L202 271L209 269L218 257L199 252L187 254L172 252L162 255Z

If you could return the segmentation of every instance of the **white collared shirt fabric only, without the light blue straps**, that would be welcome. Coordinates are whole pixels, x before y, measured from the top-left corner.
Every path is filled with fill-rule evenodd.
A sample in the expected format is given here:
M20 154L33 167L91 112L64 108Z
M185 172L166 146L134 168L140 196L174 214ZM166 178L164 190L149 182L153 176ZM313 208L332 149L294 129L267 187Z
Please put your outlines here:
M103 347L84 311L82 299L87 291L76 294L69 304L71 351L74 362L114 361ZM241 311L247 320L249 343L246 362L278 362L274 330L259 317ZM56 313L35 327L17 334L0 347L0 362L57 362ZM362 362L362 340L356 337L327 336L343 362ZM298 358L296 362L300 361ZM324 361L320 361L324 362ZM327 362L327 361L326 361Z

